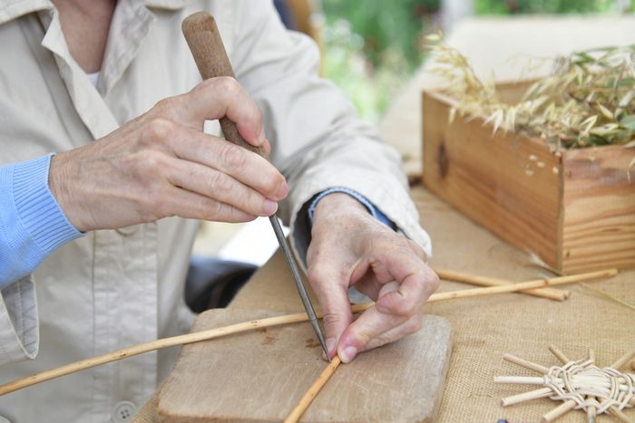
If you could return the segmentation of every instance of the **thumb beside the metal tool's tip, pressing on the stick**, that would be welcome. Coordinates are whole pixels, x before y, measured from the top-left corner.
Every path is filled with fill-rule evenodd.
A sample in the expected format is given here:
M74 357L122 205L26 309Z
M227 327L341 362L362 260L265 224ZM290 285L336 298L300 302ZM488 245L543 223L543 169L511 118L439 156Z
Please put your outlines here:
M353 322L353 313L348 301L347 281L341 280L342 275L337 272L318 269L309 269L308 281L318 295L327 350L329 358L332 358L337 353L337 342L342 332Z

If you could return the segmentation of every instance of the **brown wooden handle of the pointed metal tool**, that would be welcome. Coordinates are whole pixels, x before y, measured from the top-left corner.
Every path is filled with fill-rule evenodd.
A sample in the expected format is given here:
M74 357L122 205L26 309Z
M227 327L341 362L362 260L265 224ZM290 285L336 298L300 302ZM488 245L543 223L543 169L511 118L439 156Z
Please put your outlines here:
M211 14L205 12L190 14L183 20L181 29L203 80L219 76L235 78L230 59L220 38L219 28ZM258 153L262 157L267 157L264 149L254 147L243 139L236 128L236 123L227 117L220 118L220 128L228 141Z

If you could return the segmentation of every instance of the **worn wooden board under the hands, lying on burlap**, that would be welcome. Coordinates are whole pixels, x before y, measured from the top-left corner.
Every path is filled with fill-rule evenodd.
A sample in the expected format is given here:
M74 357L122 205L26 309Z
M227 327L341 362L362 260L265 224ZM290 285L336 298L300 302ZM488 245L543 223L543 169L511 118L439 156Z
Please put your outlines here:
M210 310L192 331L270 317ZM435 420L451 353L450 324L425 316L422 329L341 365L301 421ZM308 322L186 345L159 396L157 421L281 421L326 367Z

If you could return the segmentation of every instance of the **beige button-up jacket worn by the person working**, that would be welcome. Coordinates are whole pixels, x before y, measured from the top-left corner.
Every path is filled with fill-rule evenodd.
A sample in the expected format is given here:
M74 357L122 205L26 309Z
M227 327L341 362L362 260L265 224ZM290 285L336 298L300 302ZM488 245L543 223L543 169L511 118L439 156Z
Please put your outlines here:
M189 91L200 76L181 20L199 10L215 15L239 82L263 113L273 162L292 187L279 214L290 221L298 255L308 243L299 209L334 186L366 196L429 253L396 152L318 78L315 45L286 32L262 0L119 0L97 89L69 54L48 0L0 1L0 164L90 143ZM197 226L169 218L93 232L6 287L0 382L187 331L182 290ZM24 423L126 421L176 352L149 352L0 397L0 415Z

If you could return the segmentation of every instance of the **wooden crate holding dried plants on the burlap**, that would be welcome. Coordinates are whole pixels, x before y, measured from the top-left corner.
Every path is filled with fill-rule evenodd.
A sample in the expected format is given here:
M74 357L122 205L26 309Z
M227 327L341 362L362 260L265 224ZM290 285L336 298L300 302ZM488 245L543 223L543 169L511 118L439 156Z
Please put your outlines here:
M526 85L499 85L506 101ZM448 121L454 100L423 94L424 184L563 274L635 265L635 149L552 152L540 139Z

